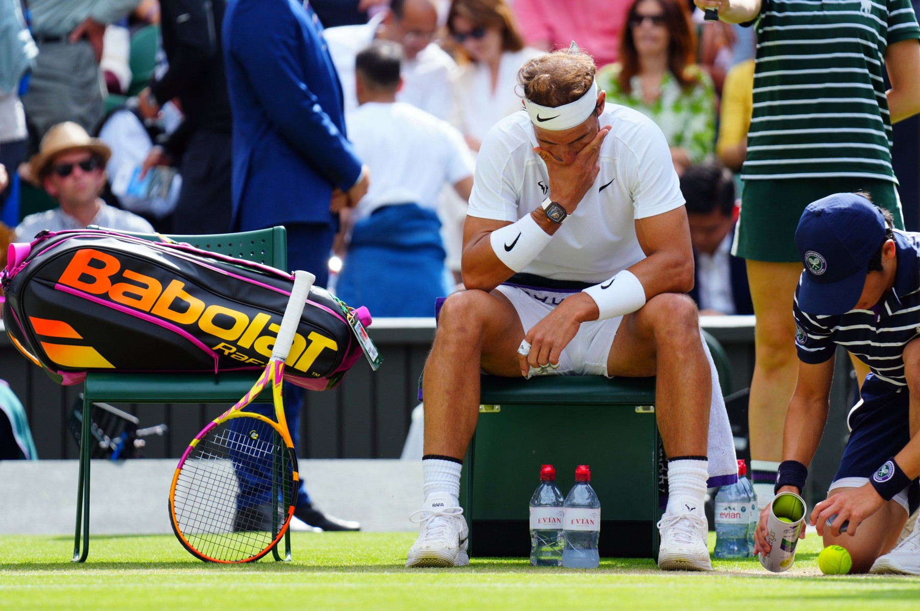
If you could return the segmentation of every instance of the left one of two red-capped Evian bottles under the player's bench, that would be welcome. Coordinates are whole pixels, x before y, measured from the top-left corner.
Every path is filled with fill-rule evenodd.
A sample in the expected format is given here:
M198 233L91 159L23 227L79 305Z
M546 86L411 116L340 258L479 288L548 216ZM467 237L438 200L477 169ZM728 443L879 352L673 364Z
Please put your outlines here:
M562 566L562 492L556 487L556 469L540 469L540 485L530 498L530 563L535 567Z

